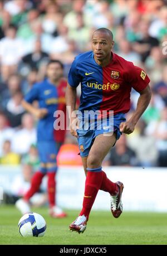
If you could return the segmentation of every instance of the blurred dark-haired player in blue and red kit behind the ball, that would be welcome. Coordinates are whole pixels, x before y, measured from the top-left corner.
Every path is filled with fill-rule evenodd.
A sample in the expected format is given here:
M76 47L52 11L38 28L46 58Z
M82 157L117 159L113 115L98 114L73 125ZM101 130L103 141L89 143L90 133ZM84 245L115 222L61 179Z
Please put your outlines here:
M55 131L53 114L57 109L66 109L65 88L67 81L62 79L63 65L58 60L51 60L47 65L47 78L33 85L32 89L26 94L22 105L23 107L39 119L37 127L37 147L40 157L41 167L31 181L30 190L27 191L23 199L16 202L16 207L26 214L30 212L29 201L31 197L40 189L42 178L47 175L48 202L50 215L53 218L63 218L66 213L56 205L56 157L60 138L57 138L58 131ZM38 108L33 106L33 102L38 101ZM61 137L64 134L61 132ZM59 140L58 140L59 139ZM56 143L57 140L57 143ZM23 142L24 143L24 142Z

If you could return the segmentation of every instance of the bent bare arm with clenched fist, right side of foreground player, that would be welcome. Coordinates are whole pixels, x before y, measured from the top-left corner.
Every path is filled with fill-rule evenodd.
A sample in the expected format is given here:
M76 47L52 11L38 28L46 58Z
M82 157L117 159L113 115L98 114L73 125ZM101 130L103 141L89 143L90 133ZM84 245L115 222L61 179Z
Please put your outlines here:
M134 131L135 125L141 115L144 113L146 108L148 107L151 99L151 89L150 86L148 85L143 91L140 91L140 96L137 101L137 108L132 115L132 117L127 120L127 122L121 123L120 124L120 132L130 134Z

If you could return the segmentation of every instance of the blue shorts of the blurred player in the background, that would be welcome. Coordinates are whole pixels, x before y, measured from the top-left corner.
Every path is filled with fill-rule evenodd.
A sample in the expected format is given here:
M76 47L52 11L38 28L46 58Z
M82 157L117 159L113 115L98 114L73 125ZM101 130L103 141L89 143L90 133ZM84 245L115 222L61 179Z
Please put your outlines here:
M37 143L41 163L56 163L57 146L55 141L40 141Z

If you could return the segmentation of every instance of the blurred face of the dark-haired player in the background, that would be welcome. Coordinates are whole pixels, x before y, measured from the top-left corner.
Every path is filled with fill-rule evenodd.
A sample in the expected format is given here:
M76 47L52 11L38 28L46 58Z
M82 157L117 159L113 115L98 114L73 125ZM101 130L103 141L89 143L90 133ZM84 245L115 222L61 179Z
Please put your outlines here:
M60 64L51 63L47 67L47 76L51 81L56 81L63 76L63 70Z

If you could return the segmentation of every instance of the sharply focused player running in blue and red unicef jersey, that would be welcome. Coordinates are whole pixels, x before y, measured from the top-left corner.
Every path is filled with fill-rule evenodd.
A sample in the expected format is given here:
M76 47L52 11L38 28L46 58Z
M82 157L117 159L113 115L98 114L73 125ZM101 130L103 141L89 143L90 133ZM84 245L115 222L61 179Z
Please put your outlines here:
M150 79L145 71L132 62L114 54L113 35L107 28L99 28L92 35L92 51L78 55L68 74L66 105L71 118L71 134L76 136L80 155L86 173L85 194L82 210L70 225L70 230L83 233L97 192L103 190L111 196L111 212L118 218L122 212L122 182L112 182L102 171L102 161L114 146L121 133L130 134L151 99ZM76 88L81 83L81 103L79 110L114 111L114 127L105 123L100 129L76 129L75 117ZM134 88L140 96L132 117L126 121L125 113L130 109L130 91ZM90 128L90 125L89 125ZM110 133L104 136L106 133Z

